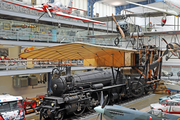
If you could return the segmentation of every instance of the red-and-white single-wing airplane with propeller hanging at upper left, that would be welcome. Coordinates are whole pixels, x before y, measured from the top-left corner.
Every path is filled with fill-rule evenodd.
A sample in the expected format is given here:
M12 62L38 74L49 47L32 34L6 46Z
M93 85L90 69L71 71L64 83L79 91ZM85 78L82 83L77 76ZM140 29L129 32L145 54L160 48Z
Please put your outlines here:
M38 22L39 19L45 13L48 13L48 15L51 18L53 17L52 14L55 14L55 15L70 18L70 19L76 19L76 20L81 20L81 21L84 21L84 22L91 22L91 23L97 23L97 24L105 25L104 22L100 22L100 21L96 21L96 20L91 20L91 19L87 19L87 18L83 18L83 17L70 15L72 13L72 9L81 10L81 9L72 7L72 3L73 3L72 1L73 0L69 1L68 7L63 6L61 2L42 3L42 5L28 6L28 5L18 4L17 2L15 3L15 2L12 2L12 1L9 1L9 0L2 0L2 1L13 4L13 5L25 7L25 8L28 8L28 9L36 10L36 11L39 11L39 12L43 12L43 14L38 19L36 19L36 22Z

